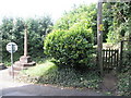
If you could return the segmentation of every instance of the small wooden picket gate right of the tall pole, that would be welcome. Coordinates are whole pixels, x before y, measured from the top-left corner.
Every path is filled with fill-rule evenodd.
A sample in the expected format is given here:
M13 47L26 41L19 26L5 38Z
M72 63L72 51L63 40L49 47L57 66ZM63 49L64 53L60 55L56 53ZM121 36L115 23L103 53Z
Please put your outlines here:
M119 65L119 50L118 49L103 49L103 68L106 71L118 68Z

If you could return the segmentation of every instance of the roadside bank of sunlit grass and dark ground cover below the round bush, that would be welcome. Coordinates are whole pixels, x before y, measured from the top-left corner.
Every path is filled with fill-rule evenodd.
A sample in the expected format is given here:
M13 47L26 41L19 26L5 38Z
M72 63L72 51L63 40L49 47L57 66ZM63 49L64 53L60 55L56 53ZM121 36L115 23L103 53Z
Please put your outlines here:
M22 71L17 79L35 84L51 84L63 87L91 89L98 89L98 85L102 82L96 71L81 72L70 68L59 69L49 60Z

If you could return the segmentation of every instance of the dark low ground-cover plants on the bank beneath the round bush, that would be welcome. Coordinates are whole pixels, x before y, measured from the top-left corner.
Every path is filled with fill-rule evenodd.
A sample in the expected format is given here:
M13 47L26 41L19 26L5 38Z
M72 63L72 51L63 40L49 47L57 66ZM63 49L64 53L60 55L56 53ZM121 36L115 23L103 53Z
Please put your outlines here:
M58 69L48 71L36 82L38 84L53 84L63 87L86 87L96 89L100 77L96 72L80 72L73 69Z

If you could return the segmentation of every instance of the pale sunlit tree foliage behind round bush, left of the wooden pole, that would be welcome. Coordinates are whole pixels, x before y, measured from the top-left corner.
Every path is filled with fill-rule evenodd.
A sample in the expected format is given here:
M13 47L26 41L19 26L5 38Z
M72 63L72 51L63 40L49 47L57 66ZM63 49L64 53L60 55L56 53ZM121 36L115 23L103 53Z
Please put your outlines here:
M96 4L81 4L73 7L69 12L66 12L61 19L59 19L53 29L70 29L75 24L87 24L85 29L91 28L94 34L94 41L96 42L97 24L96 24ZM84 27L84 26L83 26Z

